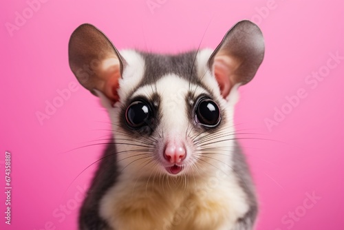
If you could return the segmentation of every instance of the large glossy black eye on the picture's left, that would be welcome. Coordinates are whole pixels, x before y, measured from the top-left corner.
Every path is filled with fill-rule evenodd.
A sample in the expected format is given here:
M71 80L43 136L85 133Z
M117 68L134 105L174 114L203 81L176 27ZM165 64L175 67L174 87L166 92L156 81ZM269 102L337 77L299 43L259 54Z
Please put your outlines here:
M151 119L151 109L144 101L134 101L127 107L125 112L127 124L133 128L140 128L148 125Z

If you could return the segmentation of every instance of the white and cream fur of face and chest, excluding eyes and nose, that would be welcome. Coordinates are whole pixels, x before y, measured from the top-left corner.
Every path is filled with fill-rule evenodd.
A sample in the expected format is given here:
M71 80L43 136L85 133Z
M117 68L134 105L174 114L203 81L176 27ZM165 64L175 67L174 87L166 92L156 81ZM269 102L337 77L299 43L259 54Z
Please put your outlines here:
M204 76L202 81L211 88L215 99L224 107L226 113L226 132L234 133L233 110L237 98L237 87L233 88L227 100L220 96L219 87L211 72L206 70L205 60L211 52L205 50L197 56L197 73ZM186 92L189 82L175 74L162 77L155 85L145 85L130 95L143 76L144 61L135 52L122 54L129 66L120 81L121 101L109 110L114 130L120 129L119 112L121 102L128 96L151 96L157 89L161 97L162 120L155 132L164 130L157 143L151 146L151 162L146 158L133 156L131 152L118 154L118 167L121 174L118 181L111 187L100 202L100 216L116 230L228 230L235 220L248 211L246 194L238 185L231 152L233 140L213 143L209 147L226 148L227 155L220 154L215 158L198 156L197 145L186 136L189 118L186 114ZM199 95L209 93L199 85L190 85L190 90ZM105 96L100 96L105 100ZM124 130L114 132L116 138L127 138L122 135ZM156 134L156 133L155 133ZM195 130L191 130L195 136ZM115 138L115 140L116 140ZM155 135L158 138L158 135ZM161 160L161 146L169 138L181 138L186 143L187 157L184 160L191 165L181 172L180 176L168 175ZM228 137L222 138L223 140ZM218 140L222 140L219 138ZM145 140L145 139L142 139ZM127 140L134 143L140 140ZM117 151L140 149L130 145L117 145ZM202 158L204 162L197 160ZM153 157L155 156L155 158ZM145 165L146 164L146 165ZM197 169L197 170L196 170ZM198 174L196 174L198 173Z

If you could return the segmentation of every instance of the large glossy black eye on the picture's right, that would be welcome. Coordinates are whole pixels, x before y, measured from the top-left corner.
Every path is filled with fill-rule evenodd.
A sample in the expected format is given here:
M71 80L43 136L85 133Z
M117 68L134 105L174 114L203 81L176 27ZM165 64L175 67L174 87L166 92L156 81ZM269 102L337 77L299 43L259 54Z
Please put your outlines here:
M202 98L196 107L196 122L206 127L215 127L221 120L219 106L210 98Z

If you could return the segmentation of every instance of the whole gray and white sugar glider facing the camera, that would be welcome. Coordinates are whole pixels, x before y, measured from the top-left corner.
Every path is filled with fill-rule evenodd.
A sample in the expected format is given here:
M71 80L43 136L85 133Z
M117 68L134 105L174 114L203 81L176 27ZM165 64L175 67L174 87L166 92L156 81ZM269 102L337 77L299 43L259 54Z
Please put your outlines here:
M118 52L93 25L76 28L69 66L100 98L112 130L79 229L253 229L258 205L233 112L263 58L250 21L215 50L182 54Z

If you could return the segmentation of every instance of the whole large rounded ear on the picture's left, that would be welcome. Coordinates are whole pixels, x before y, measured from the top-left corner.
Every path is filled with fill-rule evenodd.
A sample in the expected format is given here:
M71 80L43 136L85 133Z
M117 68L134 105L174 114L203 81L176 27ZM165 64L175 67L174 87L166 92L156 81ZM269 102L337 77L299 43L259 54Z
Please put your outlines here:
M68 55L69 66L83 87L118 101L118 80L126 63L103 32L90 24L80 25L70 36Z

